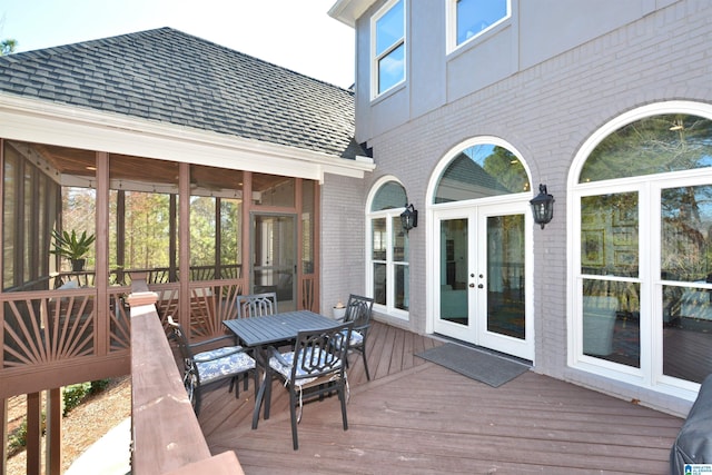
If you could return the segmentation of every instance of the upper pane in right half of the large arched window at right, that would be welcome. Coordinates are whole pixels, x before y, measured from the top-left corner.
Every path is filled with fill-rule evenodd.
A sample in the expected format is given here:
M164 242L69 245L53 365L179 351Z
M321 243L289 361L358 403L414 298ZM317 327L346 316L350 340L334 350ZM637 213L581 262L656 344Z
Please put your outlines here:
M712 186L661 191L661 277L712 281Z

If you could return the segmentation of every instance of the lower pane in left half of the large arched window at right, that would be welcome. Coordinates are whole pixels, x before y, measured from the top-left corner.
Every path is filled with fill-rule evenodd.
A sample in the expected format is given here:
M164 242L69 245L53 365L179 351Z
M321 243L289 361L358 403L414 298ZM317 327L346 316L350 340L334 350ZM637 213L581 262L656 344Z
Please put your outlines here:
M640 367L640 284L584 279L583 354Z

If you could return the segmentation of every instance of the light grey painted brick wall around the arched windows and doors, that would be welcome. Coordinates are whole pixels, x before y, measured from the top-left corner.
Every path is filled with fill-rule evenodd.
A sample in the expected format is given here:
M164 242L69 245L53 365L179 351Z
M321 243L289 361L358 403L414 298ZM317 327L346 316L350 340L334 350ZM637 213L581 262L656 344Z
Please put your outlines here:
M329 176L324 187L324 301L363 290L364 197L378 177L396 176L424 210L432 171L448 150L472 137L500 137L523 155L533 188L546 184L556 198L554 220L534 231L536 370L612 394L637 392L566 368L568 171L581 145L627 110L673 99L712 101L711 24L706 2L679 1L375 137L368 144L377 164L373 176L364 184ZM336 222L346 210L356 217ZM415 331L425 330L424 227L411 232ZM670 397L637 396L655 407L685 410L684 402Z

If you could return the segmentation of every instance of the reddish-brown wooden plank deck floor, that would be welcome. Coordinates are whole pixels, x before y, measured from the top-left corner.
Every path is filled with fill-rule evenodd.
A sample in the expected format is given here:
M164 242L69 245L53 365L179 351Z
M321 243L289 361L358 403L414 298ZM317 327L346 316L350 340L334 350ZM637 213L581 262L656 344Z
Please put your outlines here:
M533 372L493 388L416 356L442 343L375 324L366 380L353 355L348 431L336 397L308 404L291 449L287 392L250 428L253 388L204 400L214 454L251 474L666 474L683 420Z

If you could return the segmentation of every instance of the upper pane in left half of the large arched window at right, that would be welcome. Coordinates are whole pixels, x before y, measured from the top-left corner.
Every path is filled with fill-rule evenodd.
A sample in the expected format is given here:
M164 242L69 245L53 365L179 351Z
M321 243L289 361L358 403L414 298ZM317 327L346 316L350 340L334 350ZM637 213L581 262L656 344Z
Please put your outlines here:
M581 198L581 271L636 277L637 194Z

